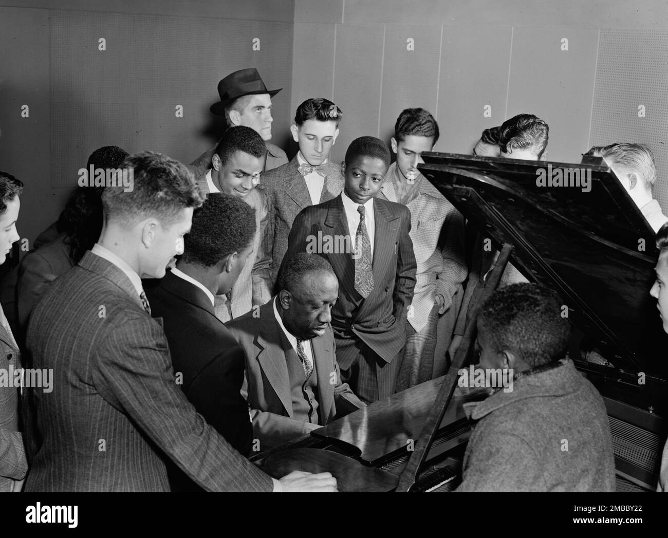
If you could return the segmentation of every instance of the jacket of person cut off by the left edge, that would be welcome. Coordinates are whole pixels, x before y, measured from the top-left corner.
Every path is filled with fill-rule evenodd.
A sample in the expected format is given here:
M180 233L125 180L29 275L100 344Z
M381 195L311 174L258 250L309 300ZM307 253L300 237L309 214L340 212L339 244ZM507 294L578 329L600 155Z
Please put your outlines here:
M9 380L10 367L21 368L21 358L1 308L0 323L0 368ZM4 385L0 384L0 493L12 491L13 481L22 480L28 470L19 432L19 389Z

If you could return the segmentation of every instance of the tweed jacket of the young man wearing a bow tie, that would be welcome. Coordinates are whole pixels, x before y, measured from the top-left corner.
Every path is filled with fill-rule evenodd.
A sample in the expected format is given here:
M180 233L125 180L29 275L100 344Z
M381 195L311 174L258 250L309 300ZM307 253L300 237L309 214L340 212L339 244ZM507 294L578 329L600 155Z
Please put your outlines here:
M320 203L331 200L343 190L343 176L341 176L339 166L332 162L327 162L325 166L329 168L329 173L325 176ZM265 172L261 176L261 182L269 194L273 211L272 234L269 236L272 243L267 247L271 251L272 286L276 283L279 267L288 249L288 235L293 221L302 209L312 205L309 188L297 168L299 168L299 161L295 155L293 160L287 164Z

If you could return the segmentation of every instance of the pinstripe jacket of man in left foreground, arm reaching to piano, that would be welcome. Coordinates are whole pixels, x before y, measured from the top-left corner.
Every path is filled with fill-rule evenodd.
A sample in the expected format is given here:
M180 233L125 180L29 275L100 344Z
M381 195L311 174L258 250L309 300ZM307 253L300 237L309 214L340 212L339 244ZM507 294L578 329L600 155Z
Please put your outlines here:
M208 491L272 491L186 400L161 324L116 265L89 251L53 281L27 347L53 392L34 392L43 444L26 491L169 491L165 455Z

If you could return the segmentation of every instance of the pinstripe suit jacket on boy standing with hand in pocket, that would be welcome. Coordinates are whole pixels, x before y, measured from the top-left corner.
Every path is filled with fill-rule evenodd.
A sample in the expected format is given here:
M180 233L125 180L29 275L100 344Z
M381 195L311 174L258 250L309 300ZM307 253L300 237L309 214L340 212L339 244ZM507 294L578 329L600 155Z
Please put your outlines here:
M339 279L339 300L332 309L337 361L347 370L359 356L356 340L391 362L405 344L407 309L415 287L415 255L407 207L373 200L373 291L363 299L355 291L355 261L347 253L323 254ZM341 195L304 209L293 224L285 259L307 252L307 237L349 235ZM354 235L354 234L353 234Z

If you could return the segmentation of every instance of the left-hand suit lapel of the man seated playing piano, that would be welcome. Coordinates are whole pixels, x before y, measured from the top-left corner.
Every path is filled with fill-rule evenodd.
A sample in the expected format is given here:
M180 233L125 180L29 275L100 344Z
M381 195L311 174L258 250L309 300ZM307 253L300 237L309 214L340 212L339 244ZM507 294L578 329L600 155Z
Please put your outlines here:
M274 299L261 307L260 320L261 329L254 342L257 347L255 358L288 416L293 416L290 377L281 338L285 335L281 335L282 329L274 315Z

